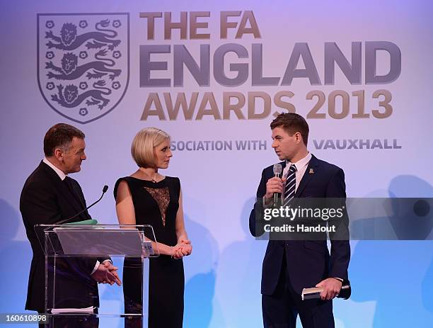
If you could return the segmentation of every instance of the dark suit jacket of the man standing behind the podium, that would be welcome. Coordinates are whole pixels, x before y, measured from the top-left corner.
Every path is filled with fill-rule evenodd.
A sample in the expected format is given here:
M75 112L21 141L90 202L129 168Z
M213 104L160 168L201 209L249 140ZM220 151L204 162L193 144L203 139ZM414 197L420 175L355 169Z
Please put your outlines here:
M55 224L86 208L79 183L73 179L72 182L75 196L50 166L40 162L21 192L21 215L33 250L26 310L45 311L45 255L34 225ZM71 221L90 218L85 211ZM98 285L90 276L96 259L57 259L56 265L56 304L49 304L49 307L98 306Z

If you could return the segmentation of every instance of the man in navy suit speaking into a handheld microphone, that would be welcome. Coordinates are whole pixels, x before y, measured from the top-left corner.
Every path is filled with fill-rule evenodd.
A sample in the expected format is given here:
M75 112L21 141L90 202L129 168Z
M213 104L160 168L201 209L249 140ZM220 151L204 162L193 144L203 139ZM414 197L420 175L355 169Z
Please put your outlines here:
M255 210L259 202L272 203L274 193L284 201L296 198L345 198L342 169L317 159L306 148L308 124L295 113L283 113L270 125L272 148L283 167L282 179L272 166L262 171L255 208L250 214L250 232L258 237ZM344 227L348 236L347 222ZM259 231L260 230L260 231ZM350 244L347 239L331 238L329 254L326 240L270 240L262 266L262 315L265 327L295 327L299 315L304 328L334 327L332 299L347 279ZM323 287L321 299L301 300L301 290Z

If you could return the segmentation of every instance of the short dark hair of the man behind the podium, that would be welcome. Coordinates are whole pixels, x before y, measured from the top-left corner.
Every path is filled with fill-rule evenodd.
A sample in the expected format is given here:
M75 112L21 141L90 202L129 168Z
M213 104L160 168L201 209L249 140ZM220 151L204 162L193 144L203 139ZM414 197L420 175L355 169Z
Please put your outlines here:
M46 157L54 155L54 149L60 148L67 152L71 145L72 139L77 137L84 139L84 133L72 125L66 123L57 123L45 133L44 137L44 154Z

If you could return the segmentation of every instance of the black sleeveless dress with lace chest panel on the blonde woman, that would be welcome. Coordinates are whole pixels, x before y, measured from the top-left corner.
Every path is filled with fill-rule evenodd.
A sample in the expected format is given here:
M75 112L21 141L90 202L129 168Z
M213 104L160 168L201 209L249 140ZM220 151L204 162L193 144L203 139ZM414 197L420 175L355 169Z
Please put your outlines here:
M179 208L179 179L166 176L155 183L127 176L117 180L115 197L120 181L126 181L131 191L136 224L151 225L158 242L175 246L178 242L175 217ZM141 281L143 273L142 268L134 267L132 262L134 260L125 259L123 271L125 312L137 313L142 309L137 281ZM185 287L182 259L160 255L150 259L149 266L149 328L182 327Z

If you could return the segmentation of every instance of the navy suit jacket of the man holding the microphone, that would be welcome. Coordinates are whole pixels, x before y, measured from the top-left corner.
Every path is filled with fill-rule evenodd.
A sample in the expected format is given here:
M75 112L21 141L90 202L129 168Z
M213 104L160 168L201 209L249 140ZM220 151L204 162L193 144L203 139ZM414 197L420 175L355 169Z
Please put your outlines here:
M283 169L286 165L281 162ZM313 169L313 174L309 174ZM274 177L273 166L262 171L258 186L258 200L265 196L266 182ZM339 167L311 157L306 172L299 183L295 197L345 198L345 174ZM258 206L256 203L255 207ZM255 208L250 213L250 232L256 235ZM348 235L348 232L347 232ZM256 236L257 237L257 236ZM347 279L350 261L350 244L347 240L333 240L329 254L325 240L270 240L262 266L262 294L272 295L277 287L283 256L286 254L287 271L296 293L302 288L314 287L325 278Z

